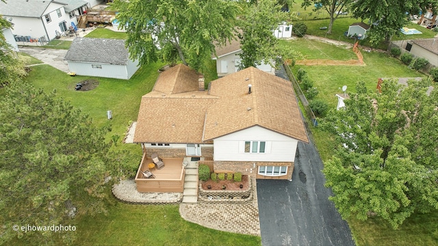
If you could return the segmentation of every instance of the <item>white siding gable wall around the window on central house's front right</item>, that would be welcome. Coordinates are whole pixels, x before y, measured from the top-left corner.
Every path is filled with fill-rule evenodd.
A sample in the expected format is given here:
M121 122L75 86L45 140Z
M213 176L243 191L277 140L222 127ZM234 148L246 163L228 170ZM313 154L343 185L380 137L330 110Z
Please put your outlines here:
M245 153L244 141L266 141L265 153ZM298 141L261 126L253 126L214 139L214 161L272 161L295 160Z

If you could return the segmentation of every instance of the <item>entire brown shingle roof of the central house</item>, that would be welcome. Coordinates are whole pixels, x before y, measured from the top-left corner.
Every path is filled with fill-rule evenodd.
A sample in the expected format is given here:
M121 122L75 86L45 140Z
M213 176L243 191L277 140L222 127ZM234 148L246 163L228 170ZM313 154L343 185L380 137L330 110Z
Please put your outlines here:
M198 74L179 65L163 72L154 90L142 96L133 141L205 143L256 125L309 141L289 81L246 68L212 81L209 93L198 92Z

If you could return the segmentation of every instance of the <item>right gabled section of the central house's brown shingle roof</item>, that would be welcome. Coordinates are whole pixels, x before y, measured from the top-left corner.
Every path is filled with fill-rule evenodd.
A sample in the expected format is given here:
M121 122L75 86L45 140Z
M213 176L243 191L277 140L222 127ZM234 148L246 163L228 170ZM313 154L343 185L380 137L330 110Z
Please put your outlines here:
M251 67L212 81L210 94L220 100L207 110L204 140L258 125L309 142L294 90L285 79Z

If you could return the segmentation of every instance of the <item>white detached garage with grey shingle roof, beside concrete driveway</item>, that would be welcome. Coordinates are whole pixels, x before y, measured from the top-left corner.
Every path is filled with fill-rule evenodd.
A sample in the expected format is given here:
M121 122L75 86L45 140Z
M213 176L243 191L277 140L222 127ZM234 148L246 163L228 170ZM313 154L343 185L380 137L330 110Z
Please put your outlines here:
M75 38L64 60L77 75L130 79L138 70L138 60L129 59L125 40Z

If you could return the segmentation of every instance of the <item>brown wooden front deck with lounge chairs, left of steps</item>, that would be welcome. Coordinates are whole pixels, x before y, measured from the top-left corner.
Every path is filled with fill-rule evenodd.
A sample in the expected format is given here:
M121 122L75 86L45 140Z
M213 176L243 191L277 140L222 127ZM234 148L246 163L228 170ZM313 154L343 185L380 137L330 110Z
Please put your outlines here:
M138 192L183 192L183 159L163 159L162 169L149 169L149 163L152 163L152 160L143 156L135 178ZM155 178L145 178L142 172L146 170L151 171Z

